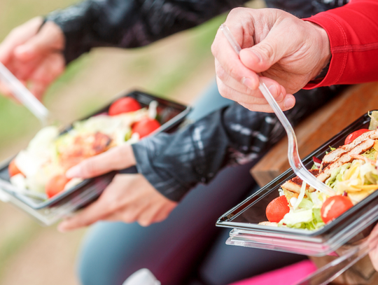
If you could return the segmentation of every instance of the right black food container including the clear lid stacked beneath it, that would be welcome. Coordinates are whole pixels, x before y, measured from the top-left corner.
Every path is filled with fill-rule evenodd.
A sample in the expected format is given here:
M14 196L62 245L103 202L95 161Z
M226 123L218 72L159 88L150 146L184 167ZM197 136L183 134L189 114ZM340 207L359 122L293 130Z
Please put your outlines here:
M343 145L348 134L367 128L369 123L370 117L367 114L361 116L304 158L302 160L304 166L310 169L314 163L313 156L322 159L325 152L330 151L330 146L337 148ZM275 197L279 197L280 186L294 176L293 170L288 169L218 219L216 225L233 228L228 244L309 256L325 256L334 253L344 244L360 242L369 234L373 223L378 220L377 190L318 230L258 225L262 221L268 221L265 216L267 204Z

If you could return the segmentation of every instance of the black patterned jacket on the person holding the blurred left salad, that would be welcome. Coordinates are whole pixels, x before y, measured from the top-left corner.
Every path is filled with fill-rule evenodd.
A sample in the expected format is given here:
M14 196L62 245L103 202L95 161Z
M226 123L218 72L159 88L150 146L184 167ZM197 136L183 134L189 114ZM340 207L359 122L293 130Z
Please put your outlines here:
M244 0L87 0L46 17L66 37L66 62L91 48L145 46L195 27ZM300 17L333 8L335 1L267 0ZM340 1L337 0L337 3ZM297 93L287 111L296 125L328 102L335 89ZM235 104L189 125L176 134L158 134L133 146L137 168L169 199L179 201L197 183L207 183L226 165L257 161L284 135L274 114L251 112Z

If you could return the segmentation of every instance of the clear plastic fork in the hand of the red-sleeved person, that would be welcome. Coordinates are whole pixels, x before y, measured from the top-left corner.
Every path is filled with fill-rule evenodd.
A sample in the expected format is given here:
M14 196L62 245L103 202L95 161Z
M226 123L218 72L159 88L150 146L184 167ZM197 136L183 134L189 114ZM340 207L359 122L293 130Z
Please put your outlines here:
M225 35L226 39L228 39L228 42L230 43L232 48L235 50L237 55L239 55L241 48L239 46L239 43L237 43L237 41L235 40L234 36L232 36L230 29L228 29L226 25L222 24L221 31ZM293 130L293 127L291 126L290 122L288 121L288 118L286 118L285 114L283 113L279 105L277 104L276 100L274 100L274 97L269 92L265 83L261 81L261 79L260 79L260 85L258 86L258 88L262 92L262 95L264 95L269 106L272 107L274 113L276 114L277 118L279 119L279 121L285 128L286 133L288 134L288 161L294 173L297 174L297 176L300 179L302 179L302 181L306 182L307 184L309 184L309 186L315 188L316 190L319 190L330 196L335 195L335 192L334 190L332 190L332 188L326 186L325 183L316 179L316 177L312 175L311 172L309 172L306 169L306 167L304 167L298 153L297 137L295 137L295 132Z

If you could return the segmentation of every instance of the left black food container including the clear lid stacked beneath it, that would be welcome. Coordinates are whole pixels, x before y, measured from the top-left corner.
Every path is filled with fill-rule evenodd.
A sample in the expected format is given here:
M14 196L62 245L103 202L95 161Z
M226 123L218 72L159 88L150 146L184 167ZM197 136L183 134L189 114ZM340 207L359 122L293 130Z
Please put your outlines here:
M154 134L158 132L174 132L190 112L190 107L188 106L140 91L123 94L120 97L133 97L137 99L142 107L147 107L152 101L158 102L157 120L160 122L161 127ZM111 104L86 118L105 113L109 110L110 106ZM83 120L86 118L83 118ZM70 129L71 126L66 127L63 132ZM85 207L90 202L96 200L117 173L137 173L136 167L130 167L119 172L111 172L93 179L86 179L69 190L65 190L48 200L41 201L18 193L17 189L10 184L8 174L9 163L10 160L7 160L0 165L0 199L3 202L15 204L45 225L55 223L62 216L67 216L73 211Z

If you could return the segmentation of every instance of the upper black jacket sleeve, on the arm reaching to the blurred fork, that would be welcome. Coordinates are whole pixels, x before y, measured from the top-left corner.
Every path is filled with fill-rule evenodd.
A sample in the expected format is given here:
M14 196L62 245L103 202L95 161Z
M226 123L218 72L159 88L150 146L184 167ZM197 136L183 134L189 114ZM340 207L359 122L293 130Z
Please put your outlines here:
M195 27L246 0L86 0L50 13L64 32L66 62L99 46L136 48Z

